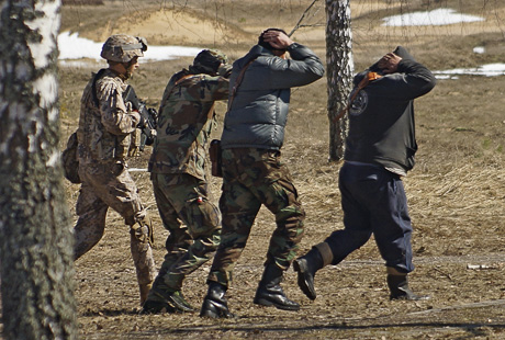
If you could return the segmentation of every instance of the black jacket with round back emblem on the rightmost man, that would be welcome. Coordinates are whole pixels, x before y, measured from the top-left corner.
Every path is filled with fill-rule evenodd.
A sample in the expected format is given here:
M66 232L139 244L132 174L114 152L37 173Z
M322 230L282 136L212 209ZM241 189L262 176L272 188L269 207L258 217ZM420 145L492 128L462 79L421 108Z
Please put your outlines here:
M405 48L394 54L402 57L397 71L371 81L351 103L344 159L406 172L417 150L414 99L428 93L436 80ZM354 91L369 71L380 73L377 65L355 77Z

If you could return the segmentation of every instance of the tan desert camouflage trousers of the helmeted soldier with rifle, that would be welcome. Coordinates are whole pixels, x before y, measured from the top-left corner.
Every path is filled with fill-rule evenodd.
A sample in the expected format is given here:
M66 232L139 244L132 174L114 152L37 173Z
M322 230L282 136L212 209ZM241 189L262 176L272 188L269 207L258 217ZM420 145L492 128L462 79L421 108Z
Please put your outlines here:
M74 228L75 259L100 241L105 230L106 212L112 207L130 226L130 249L138 284L153 282L156 276L153 228L128 171L122 163L80 165L79 177L82 185L76 206L79 219Z

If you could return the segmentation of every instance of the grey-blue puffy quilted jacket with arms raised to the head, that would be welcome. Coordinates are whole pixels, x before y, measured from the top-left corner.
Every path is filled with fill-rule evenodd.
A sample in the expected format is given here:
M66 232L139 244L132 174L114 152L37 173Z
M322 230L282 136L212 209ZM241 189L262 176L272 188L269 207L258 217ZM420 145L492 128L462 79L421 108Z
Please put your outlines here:
M293 43L282 59L260 45L233 64L231 93L240 70L238 91L224 120L223 148L261 148L278 150L284 140L290 88L308 84L324 75L319 58L307 47Z

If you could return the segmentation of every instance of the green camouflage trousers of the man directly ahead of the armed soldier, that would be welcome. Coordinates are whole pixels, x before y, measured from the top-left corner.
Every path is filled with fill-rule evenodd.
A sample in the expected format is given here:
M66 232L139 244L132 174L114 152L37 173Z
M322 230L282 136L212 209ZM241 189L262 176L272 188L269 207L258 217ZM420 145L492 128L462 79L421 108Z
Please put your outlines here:
M187 173L153 173L152 181L159 215L170 231L167 254L152 291L180 291L186 275L209 261L216 250L221 214L209 201L203 180Z

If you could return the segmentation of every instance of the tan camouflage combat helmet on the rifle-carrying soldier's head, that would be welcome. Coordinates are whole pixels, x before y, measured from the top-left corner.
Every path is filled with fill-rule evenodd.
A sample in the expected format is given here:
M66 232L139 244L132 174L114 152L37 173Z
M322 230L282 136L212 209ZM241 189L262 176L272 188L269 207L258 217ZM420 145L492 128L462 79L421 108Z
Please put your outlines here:
M103 44L100 56L110 61L128 63L134 57L143 57L145 50L147 50L146 38L114 34Z

